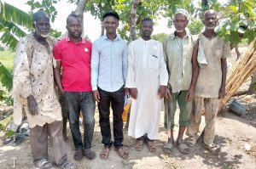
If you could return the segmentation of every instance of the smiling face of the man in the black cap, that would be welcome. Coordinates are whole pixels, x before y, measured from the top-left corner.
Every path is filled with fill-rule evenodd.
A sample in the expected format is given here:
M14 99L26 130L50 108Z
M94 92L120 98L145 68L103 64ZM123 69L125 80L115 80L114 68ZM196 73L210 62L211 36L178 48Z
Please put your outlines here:
M106 29L108 34L115 34L116 33L116 29L119 26L119 20L117 20L113 16L107 16L103 20L103 26Z

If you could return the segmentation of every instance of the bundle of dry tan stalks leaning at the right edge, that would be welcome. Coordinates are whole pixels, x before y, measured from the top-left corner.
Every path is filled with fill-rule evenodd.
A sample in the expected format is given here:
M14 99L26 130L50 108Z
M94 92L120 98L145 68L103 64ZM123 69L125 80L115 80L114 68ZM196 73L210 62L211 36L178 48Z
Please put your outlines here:
M256 70L256 49L254 43L251 42L245 54L243 54L233 65L232 69L227 75L226 95L224 99L220 100L219 112L224 108L224 105L236 93L236 90L241 87L241 84L247 81L247 78Z

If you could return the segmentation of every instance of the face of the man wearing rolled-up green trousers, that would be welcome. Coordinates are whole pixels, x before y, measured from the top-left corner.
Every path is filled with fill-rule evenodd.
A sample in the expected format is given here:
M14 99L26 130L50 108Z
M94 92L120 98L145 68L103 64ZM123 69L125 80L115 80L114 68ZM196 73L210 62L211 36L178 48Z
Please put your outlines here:
M188 23L189 20L184 14L175 14L173 25L177 32L185 31L185 28L187 27Z

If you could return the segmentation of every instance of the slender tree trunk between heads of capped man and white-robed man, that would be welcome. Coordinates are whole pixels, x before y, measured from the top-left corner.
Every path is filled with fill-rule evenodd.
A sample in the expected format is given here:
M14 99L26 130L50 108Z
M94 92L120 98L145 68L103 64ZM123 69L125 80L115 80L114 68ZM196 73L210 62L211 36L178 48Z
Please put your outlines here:
M137 7L140 5L140 0L133 0L131 12L130 12L130 40L134 41L137 39L136 32L136 19L137 19Z

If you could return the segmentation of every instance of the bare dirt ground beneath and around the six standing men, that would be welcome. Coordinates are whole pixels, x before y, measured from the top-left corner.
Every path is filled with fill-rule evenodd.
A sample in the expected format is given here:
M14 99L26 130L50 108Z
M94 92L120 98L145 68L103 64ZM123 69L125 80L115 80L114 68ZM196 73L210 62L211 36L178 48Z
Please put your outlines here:
M244 51L244 48L242 48ZM235 57L232 57L232 62ZM247 82L248 84L249 82ZM243 87L247 87L245 84ZM243 105L247 106L247 114L238 116L224 110L224 113L217 118L215 142L222 147L221 155L211 155L201 146L201 140L195 144L192 152L189 155L181 154L177 149L174 149L171 155L166 155L162 151L162 146L166 143L167 134L163 127L164 113L161 112L160 135L156 141L157 152L149 153L147 146L138 152L135 150L135 140L127 136L127 131L124 132L125 148L129 150L130 157L127 160L119 158L117 153L112 149L107 161L102 161L99 154L102 150L102 136L98 123L98 112L96 111L96 127L92 143L92 149L96 151L96 159L93 161L87 160L77 162L73 160L73 140L71 133L68 131L69 140L66 142L68 159L73 161L76 168L243 168L256 169L256 96L242 95L236 99ZM176 124L178 121L178 112L176 114ZM177 134L177 128L175 132ZM204 121L201 122L201 131L204 127ZM81 131L82 131L81 127ZM0 139L4 138L4 132L0 132ZM49 142L49 157L52 159L52 148ZM15 167L14 160L15 158ZM3 145L0 143L0 169L31 169L32 154L29 144L29 139L20 146L14 147L11 144Z

